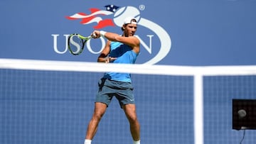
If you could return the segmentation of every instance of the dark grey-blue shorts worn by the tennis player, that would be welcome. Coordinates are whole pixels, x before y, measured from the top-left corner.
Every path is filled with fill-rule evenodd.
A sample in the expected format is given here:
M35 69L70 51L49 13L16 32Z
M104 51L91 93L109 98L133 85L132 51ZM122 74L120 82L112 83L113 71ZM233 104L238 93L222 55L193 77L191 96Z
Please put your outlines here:
M101 102L110 105L115 96L122 108L125 104L134 104L133 87L130 82L118 82L110 79L102 78L98 82L99 90L97 92L95 102Z

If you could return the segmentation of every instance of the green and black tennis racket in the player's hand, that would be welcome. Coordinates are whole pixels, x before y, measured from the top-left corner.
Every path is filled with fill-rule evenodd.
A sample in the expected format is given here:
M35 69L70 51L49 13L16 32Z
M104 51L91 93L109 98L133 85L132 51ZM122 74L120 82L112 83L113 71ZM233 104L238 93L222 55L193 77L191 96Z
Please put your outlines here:
M78 33L69 35L68 37L68 50L72 55L80 55L85 47L87 40L90 40L92 36L82 36Z

